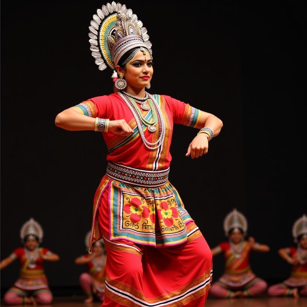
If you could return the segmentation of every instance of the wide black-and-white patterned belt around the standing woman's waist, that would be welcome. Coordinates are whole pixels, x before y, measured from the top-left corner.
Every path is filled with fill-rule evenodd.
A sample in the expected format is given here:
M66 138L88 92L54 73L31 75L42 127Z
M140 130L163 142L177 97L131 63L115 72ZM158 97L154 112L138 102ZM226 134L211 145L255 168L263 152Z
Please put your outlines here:
M161 171L147 171L108 161L107 175L130 185L155 188L165 185L168 181L169 168Z

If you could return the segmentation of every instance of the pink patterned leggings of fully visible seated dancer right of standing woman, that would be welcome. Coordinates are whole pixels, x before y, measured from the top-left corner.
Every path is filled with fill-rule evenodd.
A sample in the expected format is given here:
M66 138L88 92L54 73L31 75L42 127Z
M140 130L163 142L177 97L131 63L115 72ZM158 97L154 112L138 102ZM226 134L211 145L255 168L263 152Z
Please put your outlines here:
M267 283L264 280L257 278L257 282L251 281L242 289L238 290L229 290L226 287L223 287L220 283L214 283L211 286L210 293L216 297L226 298L226 297L231 297L231 294L233 292L241 290L245 291L248 296L255 296L264 292L266 288L267 288Z

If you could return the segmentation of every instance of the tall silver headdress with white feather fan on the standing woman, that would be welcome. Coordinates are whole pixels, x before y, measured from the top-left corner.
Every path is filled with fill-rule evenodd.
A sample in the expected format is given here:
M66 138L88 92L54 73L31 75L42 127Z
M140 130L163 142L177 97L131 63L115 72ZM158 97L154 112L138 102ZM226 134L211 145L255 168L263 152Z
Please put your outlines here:
M90 49L100 70L107 65L115 70L124 53L135 47L145 48L152 54L147 29L126 5L114 1L103 5L93 15L89 29Z

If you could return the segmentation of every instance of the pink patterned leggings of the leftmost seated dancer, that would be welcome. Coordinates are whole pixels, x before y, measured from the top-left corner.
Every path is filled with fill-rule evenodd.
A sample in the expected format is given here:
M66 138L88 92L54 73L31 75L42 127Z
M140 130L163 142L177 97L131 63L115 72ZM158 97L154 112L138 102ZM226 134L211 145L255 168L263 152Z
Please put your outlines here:
M24 297L29 294L34 297L37 304L41 305L51 304L53 299L52 293L48 289L27 292L17 287L12 287L4 294L3 301L6 305L22 305L24 303Z

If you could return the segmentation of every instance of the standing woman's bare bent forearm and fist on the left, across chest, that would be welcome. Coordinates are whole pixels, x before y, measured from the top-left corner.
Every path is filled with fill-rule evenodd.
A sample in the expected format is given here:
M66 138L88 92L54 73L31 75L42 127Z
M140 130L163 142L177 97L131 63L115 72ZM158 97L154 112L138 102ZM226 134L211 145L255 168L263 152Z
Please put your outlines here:
M82 114L78 108L71 107L56 115L55 125L70 131L95 130L95 120ZM123 136L134 132L124 119L110 120L109 131Z

